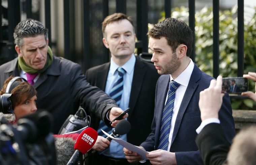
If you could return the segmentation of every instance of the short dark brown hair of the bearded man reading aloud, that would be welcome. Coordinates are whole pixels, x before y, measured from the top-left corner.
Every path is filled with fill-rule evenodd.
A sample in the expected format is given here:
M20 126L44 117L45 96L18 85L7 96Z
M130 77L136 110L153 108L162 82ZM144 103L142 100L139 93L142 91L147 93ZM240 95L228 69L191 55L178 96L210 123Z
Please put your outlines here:
M182 20L175 18L166 18L154 25L149 30L148 35L155 39L165 37L168 45L173 53L180 44L187 46L187 56L189 57L192 51L193 35L190 27Z

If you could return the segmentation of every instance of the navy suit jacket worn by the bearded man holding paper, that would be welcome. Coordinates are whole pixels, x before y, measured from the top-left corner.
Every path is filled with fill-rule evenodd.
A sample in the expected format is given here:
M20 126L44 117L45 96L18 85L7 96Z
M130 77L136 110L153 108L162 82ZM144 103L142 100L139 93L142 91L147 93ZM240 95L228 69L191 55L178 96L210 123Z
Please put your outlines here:
M184 94L177 119L175 121L170 152L175 152L177 164L203 164L200 152L196 146L196 128L201 123L198 106L199 93L208 88L213 77L202 72L196 65L192 71L187 90ZM170 75L161 75L156 86L155 112L152 122L152 132L140 146L146 151L156 150L159 144L162 110L168 91ZM219 112L222 129L229 143L235 135L232 108L228 95L223 97Z

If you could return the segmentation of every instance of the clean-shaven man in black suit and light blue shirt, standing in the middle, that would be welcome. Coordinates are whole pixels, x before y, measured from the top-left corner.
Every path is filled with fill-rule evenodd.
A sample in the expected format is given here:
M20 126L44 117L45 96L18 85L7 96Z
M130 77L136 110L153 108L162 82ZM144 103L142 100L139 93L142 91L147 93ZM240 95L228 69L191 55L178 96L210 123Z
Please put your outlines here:
M86 71L88 82L109 94L118 77L118 68L125 70L123 75L123 94L120 108L130 108L127 120L131 130L120 138L131 144L139 145L151 132L154 116L155 87L159 77L154 65L141 61L133 54L135 49L135 32L130 17L123 13L107 16L102 22L103 43L109 49L111 60L108 63L90 68ZM91 115L91 127L99 128L100 118ZM99 130L101 133L101 131ZM108 145L110 146L108 147ZM108 147L108 148L107 148ZM93 146L98 154L89 154L89 164L129 164L125 159L123 147L115 141L107 141L98 136ZM87 161L87 162L88 162Z

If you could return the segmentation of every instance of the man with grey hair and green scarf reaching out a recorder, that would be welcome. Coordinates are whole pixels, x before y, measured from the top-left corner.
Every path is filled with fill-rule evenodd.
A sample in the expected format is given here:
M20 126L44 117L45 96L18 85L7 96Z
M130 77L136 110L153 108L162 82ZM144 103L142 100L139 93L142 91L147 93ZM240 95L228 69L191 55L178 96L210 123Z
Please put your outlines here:
M87 82L80 65L53 56L48 30L41 22L21 21L13 37L18 57L0 66L0 87L10 75L27 79L37 90L37 108L52 113L55 134L79 105L92 110L106 124L122 112L113 99Z

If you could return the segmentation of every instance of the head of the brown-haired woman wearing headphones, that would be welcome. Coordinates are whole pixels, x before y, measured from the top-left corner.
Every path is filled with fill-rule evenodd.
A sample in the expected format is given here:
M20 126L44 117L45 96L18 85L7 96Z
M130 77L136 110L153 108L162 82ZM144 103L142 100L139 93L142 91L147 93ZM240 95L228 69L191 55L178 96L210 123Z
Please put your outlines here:
M3 88L0 90L0 95L10 93L13 114L0 113L0 117L4 117L10 123L15 123L19 118L33 113L37 110L36 99L37 92L33 86L23 82L23 78L10 76L4 82Z

